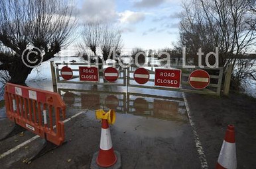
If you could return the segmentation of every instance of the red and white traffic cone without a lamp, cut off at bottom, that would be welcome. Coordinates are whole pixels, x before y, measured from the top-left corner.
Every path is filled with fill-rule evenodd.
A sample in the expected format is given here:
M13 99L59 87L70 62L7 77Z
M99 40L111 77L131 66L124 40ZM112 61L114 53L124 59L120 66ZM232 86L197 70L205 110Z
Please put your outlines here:
M222 149L218 158L216 169L236 169L237 158L235 152L235 127L233 125L227 126L225 139L222 143Z

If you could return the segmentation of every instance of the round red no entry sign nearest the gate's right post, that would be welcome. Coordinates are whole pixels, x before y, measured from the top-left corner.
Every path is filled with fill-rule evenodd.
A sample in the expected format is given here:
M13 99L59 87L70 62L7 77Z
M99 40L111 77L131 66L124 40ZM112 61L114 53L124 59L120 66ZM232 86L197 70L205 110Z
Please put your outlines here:
M210 84L210 75L206 71L198 69L190 73L188 82L193 88L203 89Z

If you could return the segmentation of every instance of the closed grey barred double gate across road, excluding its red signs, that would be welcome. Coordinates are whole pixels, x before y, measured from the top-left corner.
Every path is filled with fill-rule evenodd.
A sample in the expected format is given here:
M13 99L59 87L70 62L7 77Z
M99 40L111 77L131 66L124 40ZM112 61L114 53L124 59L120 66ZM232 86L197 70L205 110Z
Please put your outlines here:
M129 91L129 88L147 88L147 89L154 89L154 90L173 90L178 92L193 92L198 94L212 94L220 96L220 91L222 87L222 76L223 76L223 67L218 68L210 68L210 67L204 67L203 69L208 72L210 75L210 84L202 89L202 90L196 90L192 88L188 82L188 77L190 76L190 73L196 69L202 69L200 67L195 67L193 69L191 68L183 68L182 66L174 65L172 66L172 69L180 69L182 71L181 73L181 86L180 88L172 88L172 87L166 87L166 86L155 86L155 69L162 68L165 69L162 65L150 65L148 64L146 67L143 67L147 69L149 72L150 78L148 83L145 85L140 85L135 82L135 79L133 78L133 73L135 72L137 65L133 64L130 65L127 68L121 67L118 63L109 63L109 64L91 64L90 67L98 67L98 66L104 66L103 69L99 70L99 81L97 82L90 82L90 81L80 81L79 80L79 66L87 66L87 63L54 63L54 61L50 62L51 64L51 70L52 70L52 82L54 88L56 88L57 83L67 83L67 84L88 84L88 85L106 85L106 86L120 86L120 87L126 87L127 92ZM112 67L114 66L117 68L119 73L119 78L114 83L107 82L103 77L103 71L106 67ZM70 66L74 75L72 79L66 81L62 78L60 75L61 68L64 66Z

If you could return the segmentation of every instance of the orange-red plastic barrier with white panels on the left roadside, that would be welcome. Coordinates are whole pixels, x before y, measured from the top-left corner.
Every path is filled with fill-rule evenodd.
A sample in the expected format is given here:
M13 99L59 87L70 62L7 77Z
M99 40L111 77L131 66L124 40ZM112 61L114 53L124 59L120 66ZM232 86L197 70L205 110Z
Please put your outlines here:
M21 127L55 145L64 142L66 105L58 93L7 83L5 108L7 117Z

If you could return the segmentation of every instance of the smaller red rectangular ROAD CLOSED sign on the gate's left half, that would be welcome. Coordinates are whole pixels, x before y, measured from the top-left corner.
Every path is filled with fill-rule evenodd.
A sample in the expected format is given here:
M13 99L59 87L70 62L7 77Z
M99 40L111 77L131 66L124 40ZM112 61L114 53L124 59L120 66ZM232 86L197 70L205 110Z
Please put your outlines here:
M99 81L99 71L97 67L79 67L80 81Z

